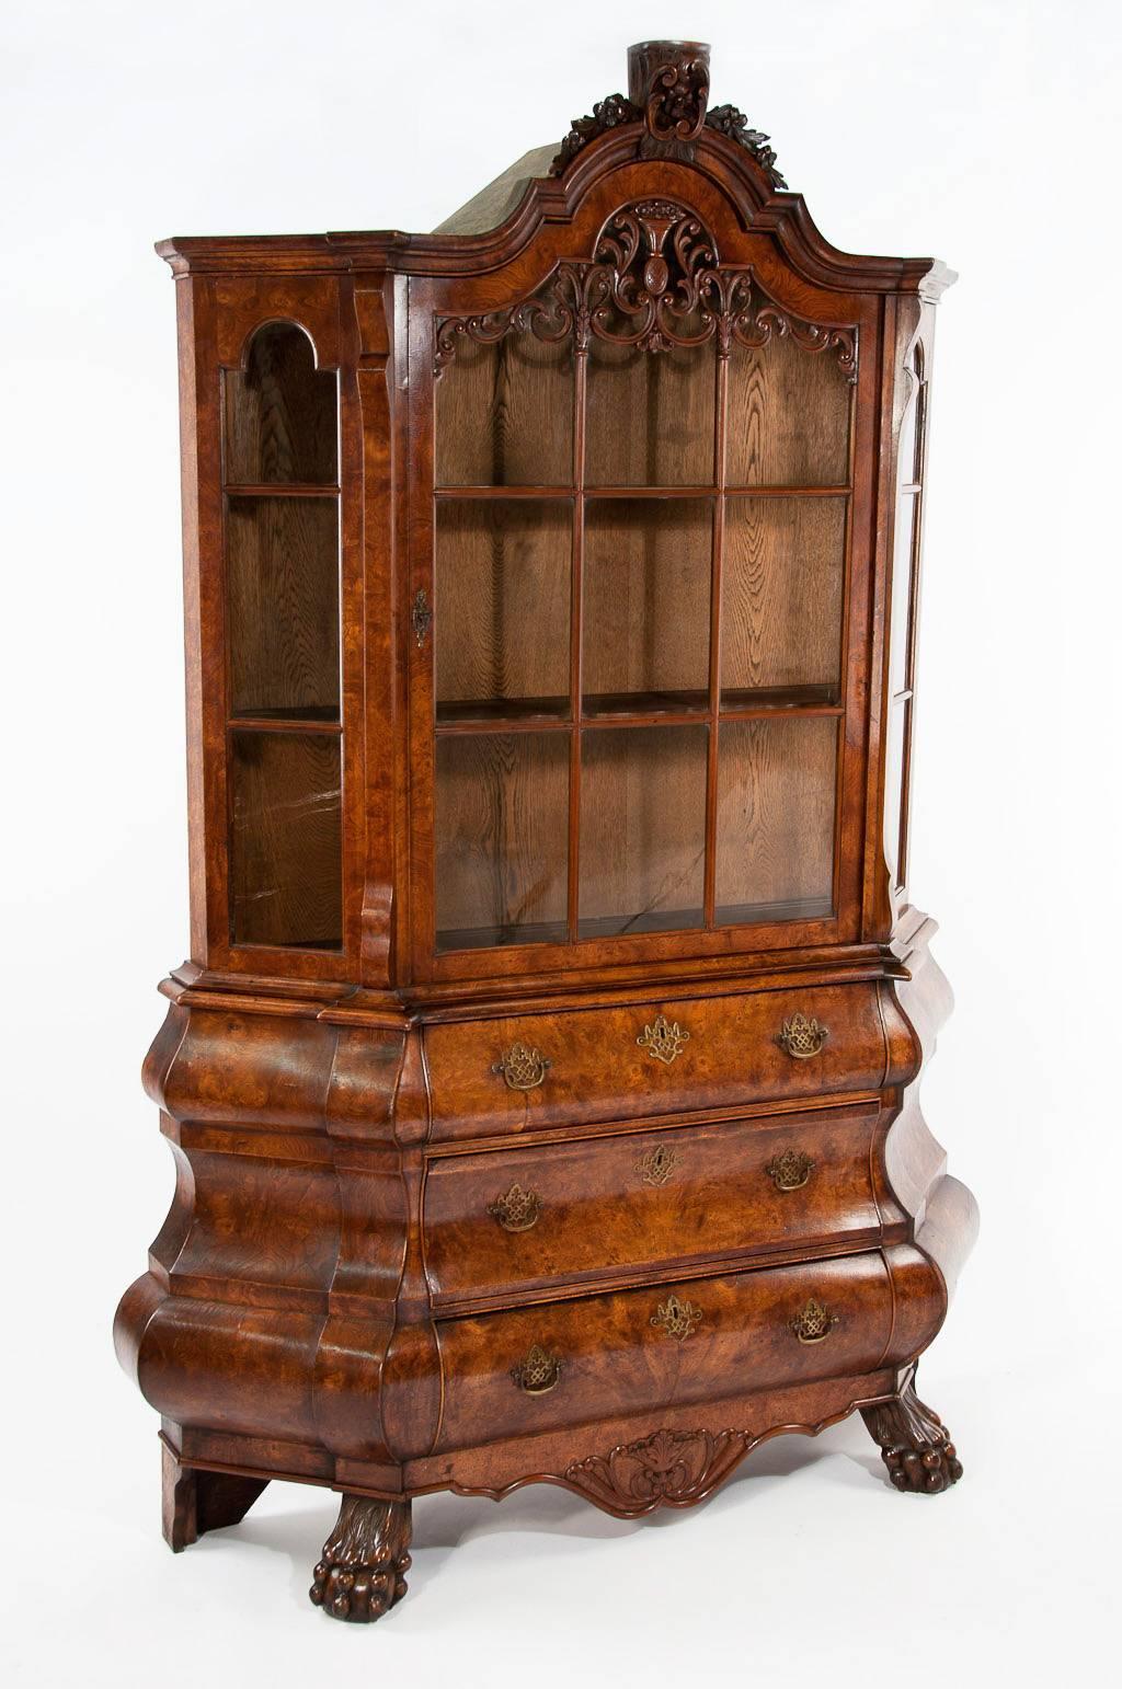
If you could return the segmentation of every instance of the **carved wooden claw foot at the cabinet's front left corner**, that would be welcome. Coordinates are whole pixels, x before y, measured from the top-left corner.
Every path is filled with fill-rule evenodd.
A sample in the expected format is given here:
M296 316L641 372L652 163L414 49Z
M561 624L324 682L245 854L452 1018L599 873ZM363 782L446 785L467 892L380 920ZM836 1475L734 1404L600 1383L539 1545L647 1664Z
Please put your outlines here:
M330 1618L372 1625L406 1593L411 1502L345 1495L308 1594Z

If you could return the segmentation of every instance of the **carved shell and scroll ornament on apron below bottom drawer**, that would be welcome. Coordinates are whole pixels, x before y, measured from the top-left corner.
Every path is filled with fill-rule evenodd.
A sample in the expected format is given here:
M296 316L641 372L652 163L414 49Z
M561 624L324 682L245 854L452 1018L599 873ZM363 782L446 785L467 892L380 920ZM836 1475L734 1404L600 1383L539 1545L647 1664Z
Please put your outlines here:
M656 1431L610 1454L564 1469L564 1481L596 1507L635 1517L691 1507L722 1483L750 1447L745 1431Z

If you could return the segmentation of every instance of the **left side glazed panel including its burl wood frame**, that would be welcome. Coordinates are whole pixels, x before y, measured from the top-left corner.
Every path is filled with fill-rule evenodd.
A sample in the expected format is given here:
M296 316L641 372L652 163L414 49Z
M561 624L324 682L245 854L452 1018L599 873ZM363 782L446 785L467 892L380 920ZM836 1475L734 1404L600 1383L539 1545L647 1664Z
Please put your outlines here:
M340 282L177 285L193 954L220 969L340 978L355 948L348 855L362 831L353 802L348 816L360 677L341 660L358 512L350 488L341 495Z

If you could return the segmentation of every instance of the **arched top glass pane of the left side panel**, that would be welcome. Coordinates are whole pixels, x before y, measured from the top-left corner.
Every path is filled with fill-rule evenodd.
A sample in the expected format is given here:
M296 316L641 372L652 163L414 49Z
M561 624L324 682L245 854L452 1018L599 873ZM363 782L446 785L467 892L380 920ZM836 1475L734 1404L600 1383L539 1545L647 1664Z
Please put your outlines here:
M265 323L245 370L225 372L225 476L262 481L338 480L335 370L316 370L311 341L294 323Z

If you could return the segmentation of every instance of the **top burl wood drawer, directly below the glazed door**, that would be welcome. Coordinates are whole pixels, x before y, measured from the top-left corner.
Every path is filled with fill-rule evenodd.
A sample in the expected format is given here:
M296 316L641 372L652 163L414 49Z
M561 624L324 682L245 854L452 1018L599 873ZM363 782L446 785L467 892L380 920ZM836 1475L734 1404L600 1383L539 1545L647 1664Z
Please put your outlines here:
M439 1140L875 1091L875 983L429 1025Z

